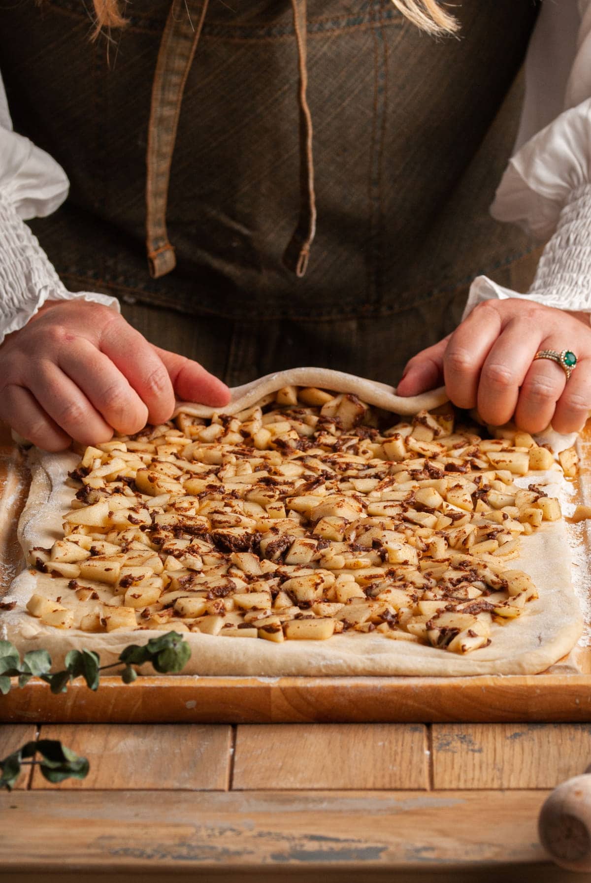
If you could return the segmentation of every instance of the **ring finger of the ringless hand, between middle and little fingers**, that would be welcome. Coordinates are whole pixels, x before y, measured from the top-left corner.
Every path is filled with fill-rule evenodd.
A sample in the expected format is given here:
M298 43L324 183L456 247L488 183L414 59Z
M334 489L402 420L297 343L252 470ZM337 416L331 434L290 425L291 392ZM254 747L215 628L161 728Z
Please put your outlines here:
M33 364L27 386L57 426L81 444L108 442L113 430L84 393L49 360ZM43 446L42 446L43 447Z

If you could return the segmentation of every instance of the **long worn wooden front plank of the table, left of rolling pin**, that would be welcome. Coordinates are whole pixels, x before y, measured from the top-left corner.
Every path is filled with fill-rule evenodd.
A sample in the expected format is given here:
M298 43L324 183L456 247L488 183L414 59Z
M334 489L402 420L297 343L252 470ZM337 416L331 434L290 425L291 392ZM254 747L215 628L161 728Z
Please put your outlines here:
M0 796L0 867L478 873L545 861L535 820L547 793L15 791Z

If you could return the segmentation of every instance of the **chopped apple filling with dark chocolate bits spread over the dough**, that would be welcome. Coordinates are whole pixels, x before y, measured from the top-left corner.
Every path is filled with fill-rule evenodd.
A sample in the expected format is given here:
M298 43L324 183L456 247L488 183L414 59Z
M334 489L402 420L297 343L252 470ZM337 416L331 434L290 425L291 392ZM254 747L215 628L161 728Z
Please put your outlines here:
M559 466L527 433L482 438L451 405L391 420L285 387L238 415L181 413L80 451L64 536L28 557L67 588L29 613L91 632L489 645L537 597L511 569L520 544L561 517L514 476ZM560 464L572 477L574 451Z

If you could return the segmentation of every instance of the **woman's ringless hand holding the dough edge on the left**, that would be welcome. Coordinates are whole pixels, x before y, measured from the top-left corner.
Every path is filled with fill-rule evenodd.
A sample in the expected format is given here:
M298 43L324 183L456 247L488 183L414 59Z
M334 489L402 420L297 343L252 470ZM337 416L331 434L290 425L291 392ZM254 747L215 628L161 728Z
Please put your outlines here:
M175 396L227 404L228 388L85 300L46 304L0 346L0 419L40 448L107 442L170 418Z

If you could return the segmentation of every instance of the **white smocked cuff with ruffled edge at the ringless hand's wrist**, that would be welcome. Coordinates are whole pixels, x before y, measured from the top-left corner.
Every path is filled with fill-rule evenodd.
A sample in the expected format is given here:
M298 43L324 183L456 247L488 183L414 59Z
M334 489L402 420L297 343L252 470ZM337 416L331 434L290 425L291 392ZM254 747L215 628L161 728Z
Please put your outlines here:
M0 343L47 300L82 298L119 309L117 298L92 291L67 291L11 201L0 193Z

